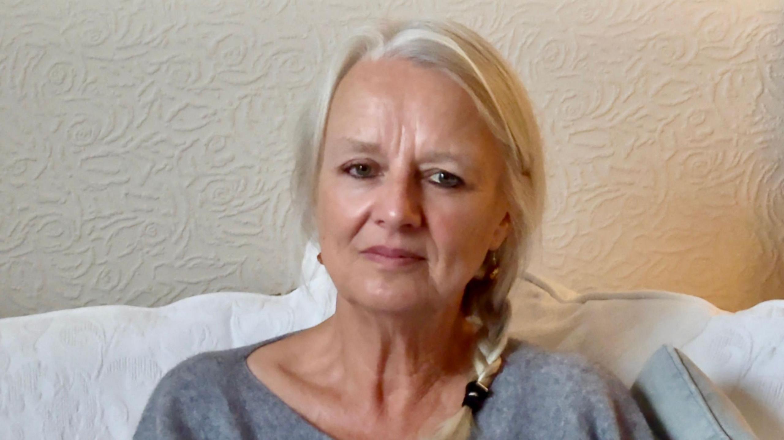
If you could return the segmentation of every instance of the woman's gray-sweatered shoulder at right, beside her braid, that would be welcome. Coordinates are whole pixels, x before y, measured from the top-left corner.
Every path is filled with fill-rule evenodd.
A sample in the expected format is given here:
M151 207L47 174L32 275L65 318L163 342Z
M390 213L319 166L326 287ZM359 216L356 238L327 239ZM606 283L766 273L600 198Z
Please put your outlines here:
M514 408L515 426L506 429L524 438L559 438L570 431L585 431L585 438L652 438L628 388L583 355L512 340L491 389L495 409L487 417ZM557 425L550 423L553 417Z

